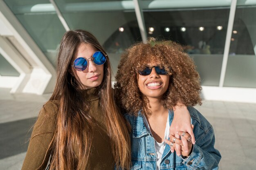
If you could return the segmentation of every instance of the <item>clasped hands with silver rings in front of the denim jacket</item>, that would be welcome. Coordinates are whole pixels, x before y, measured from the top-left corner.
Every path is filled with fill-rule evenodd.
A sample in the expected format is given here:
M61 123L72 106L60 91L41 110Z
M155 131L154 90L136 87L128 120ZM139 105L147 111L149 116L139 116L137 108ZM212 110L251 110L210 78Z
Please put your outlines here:
M188 157L189 153L191 152L191 148L192 148L191 136L189 135L189 133L185 133L183 131L177 131L176 134L179 135L181 137L181 139L184 138L186 141L188 141L188 150L186 150L185 147L183 146L183 141L180 140L179 138L174 137L173 135L170 135L170 141L165 139L164 142L166 144L170 145L172 153L174 152L174 148L176 146L180 146L181 155L184 157Z

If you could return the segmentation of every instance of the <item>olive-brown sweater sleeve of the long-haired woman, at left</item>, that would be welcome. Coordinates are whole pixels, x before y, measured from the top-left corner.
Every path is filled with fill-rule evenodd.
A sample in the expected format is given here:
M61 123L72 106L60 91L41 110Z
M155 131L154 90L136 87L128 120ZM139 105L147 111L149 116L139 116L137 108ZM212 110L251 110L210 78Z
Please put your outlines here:
M44 158L47 161L49 160L50 150L48 148L53 138L57 110L57 106L52 102L48 102L40 110L29 141L22 170L36 170L43 163ZM46 168L47 161L45 161L42 169Z

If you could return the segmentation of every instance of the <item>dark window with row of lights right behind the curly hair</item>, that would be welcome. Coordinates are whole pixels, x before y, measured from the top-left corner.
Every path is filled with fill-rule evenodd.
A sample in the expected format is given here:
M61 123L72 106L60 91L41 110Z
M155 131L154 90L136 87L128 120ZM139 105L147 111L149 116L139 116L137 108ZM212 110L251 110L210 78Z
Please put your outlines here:
M144 10L148 36L182 44L209 86L219 85L228 18L229 7Z

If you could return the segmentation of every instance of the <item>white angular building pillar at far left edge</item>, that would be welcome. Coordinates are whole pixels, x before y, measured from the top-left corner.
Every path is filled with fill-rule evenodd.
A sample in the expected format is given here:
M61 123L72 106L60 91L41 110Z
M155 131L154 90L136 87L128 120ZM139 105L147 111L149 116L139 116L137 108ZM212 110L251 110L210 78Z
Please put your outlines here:
M0 29L0 52L20 73L17 82L10 86L11 93L41 95L52 92L56 77L54 66L3 0L0 0L0 25L5 28Z

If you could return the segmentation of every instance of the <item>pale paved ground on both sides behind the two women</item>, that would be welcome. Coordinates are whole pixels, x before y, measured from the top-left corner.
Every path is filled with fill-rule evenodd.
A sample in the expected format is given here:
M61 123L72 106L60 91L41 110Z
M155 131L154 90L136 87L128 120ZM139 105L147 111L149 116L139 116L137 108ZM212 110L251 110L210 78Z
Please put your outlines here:
M0 88L0 170L20 170L31 127L50 95L10 95ZM213 125L220 170L255 170L256 104L204 101L196 107Z

